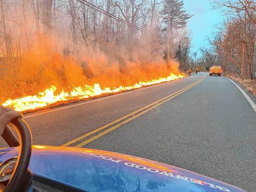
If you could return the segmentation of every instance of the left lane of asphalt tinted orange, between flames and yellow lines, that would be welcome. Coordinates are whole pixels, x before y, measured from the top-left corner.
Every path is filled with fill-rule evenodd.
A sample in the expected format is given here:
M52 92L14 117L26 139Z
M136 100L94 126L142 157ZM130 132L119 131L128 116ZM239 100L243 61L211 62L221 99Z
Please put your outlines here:
M30 113L25 116L29 116L25 120L32 129L33 144L59 146L160 100L201 78L202 76L191 76L132 92L71 104L68 105L69 108L64 106ZM56 109L60 110L53 111Z

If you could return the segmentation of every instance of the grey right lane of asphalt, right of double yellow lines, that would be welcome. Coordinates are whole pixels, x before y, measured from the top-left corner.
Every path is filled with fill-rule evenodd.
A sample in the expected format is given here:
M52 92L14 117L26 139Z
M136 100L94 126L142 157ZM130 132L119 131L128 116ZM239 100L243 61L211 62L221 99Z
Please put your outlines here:
M167 103L87 144L164 162L256 191L256 113L224 77L207 76Z

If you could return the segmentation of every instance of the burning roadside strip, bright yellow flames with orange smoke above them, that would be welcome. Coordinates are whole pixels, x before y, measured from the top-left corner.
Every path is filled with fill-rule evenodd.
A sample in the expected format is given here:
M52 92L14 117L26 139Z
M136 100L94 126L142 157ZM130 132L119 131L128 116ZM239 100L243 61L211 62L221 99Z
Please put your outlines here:
M89 54L90 53L90 54ZM0 69L0 104L20 112L69 104L184 77L179 63L167 67L160 54L144 47L119 54L106 63L105 55L81 56L49 51L40 44L21 56L8 57Z

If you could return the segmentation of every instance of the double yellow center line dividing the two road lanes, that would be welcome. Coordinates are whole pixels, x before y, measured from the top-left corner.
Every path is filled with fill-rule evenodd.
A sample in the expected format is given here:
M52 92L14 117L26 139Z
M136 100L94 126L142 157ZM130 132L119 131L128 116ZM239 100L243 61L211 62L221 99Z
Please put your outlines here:
M195 83L190 84L187 87L185 87L183 89L180 89L179 91L177 91L175 93L172 93L171 95L166 96L166 97L164 97L160 100L157 100L156 102L154 102L152 104L149 104L149 105L147 105L143 108L140 108L140 109L138 109L138 110L126 115L126 116L123 116L118 120L115 120L115 121L113 121L109 124L106 124L106 125L104 125L100 128L97 128L97 129L93 130L92 132L88 132L83 136L80 136L80 137L78 137L74 140L71 140L68 143L63 144L62 146L70 146L70 145L76 143L75 147L82 147L82 146L84 146L88 143L91 143L92 141L100 138L101 136L104 136L105 134L107 134L109 132L112 132L116 128L119 128L121 125L128 123L129 121L143 115L144 113L146 113L148 111L151 111L152 109L158 107L159 105L166 103L168 100L171 100L172 98L174 98L174 97L180 95L181 93L187 91L188 89L194 87L196 84L199 84L201 81L203 81L205 79L205 77L206 77L206 75L204 74L203 78L196 81ZM106 129L106 130L104 130L104 129ZM95 135L95 136L92 136L92 135ZM92 137L86 139L89 136L92 136Z

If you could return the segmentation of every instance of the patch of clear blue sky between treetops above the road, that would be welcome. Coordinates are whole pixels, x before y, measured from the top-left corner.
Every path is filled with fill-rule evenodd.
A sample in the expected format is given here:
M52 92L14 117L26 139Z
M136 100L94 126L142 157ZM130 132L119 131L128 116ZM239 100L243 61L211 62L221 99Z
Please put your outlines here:
M222 21L218 10L212 10L208 0L184 0L184 9L194 15L188 21L188 30L192 31L192 52L200 56L200 47L207 45L206 36L216 31L215 26Z

